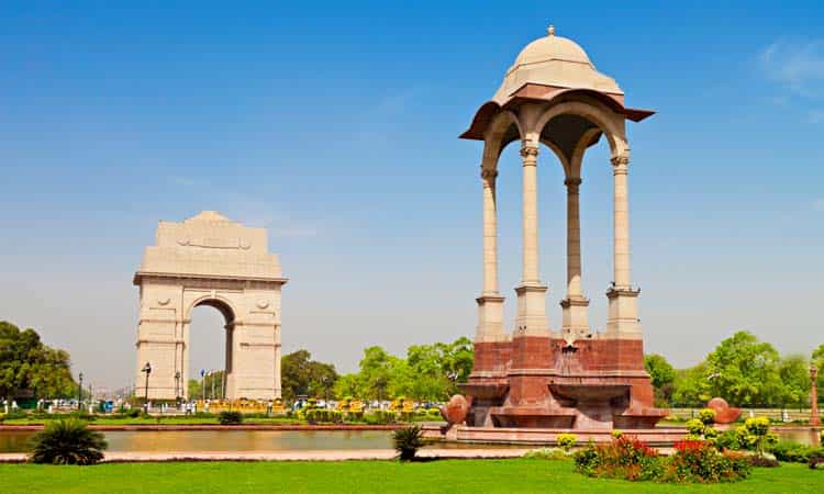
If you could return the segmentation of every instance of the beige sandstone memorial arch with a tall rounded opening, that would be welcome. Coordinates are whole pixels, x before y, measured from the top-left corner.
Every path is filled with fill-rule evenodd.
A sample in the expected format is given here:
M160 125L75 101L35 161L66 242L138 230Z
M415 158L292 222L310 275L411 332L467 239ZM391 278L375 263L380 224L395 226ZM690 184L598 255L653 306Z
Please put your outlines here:
M208 305L225 318L225 397L280 397L278 256L265 228L248 228L214 211L181 223L160 222L134 274L140 287L135 394L188 397L191 313ZM148 363L152 372L143 372ZM146 384L148 382L148 384Z

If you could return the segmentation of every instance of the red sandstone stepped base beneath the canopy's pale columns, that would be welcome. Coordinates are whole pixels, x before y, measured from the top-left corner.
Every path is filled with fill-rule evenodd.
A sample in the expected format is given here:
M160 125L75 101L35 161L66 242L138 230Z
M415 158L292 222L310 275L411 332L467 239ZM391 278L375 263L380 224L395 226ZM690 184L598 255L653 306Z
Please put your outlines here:
M521 429L634 434L654 429L667 415L653 406L641 339L593 337L569 344L516 334L512 341L479 341L461 391L471 404L466 425L471 434L490 438L520 438Z

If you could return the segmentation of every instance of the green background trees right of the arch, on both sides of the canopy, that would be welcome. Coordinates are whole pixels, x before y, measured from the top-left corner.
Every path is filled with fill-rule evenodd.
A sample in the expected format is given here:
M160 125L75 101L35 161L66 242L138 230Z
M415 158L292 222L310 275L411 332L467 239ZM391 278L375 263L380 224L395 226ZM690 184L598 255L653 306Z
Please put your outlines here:
M405 357L375 346L364 350L357 372L338 375L333 364L314 361L308 350L299 350L283 357L283 398L405 396L445 401L459 392L458 384L469 377L472 360L472 343L468 338L452 344L413 345ZM656 403L661 407L700 407L715 396L732 406L809 406L811 362L824 373L824 345L809 358L782 357L772 345L748 332L724 339L691 368L676 369L660 355L644 358ZM824 401L824 377L819 380L819 400Z

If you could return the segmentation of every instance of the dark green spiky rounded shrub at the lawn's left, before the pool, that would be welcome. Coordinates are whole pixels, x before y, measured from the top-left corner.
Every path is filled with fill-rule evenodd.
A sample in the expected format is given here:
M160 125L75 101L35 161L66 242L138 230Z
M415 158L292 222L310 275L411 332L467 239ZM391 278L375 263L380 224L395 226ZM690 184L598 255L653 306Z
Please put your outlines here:
M109 446L102 434L76 418L49 423L32 438L32 445L30 461L51 464L94 464Z

